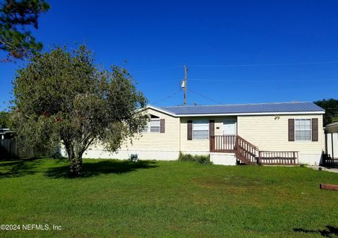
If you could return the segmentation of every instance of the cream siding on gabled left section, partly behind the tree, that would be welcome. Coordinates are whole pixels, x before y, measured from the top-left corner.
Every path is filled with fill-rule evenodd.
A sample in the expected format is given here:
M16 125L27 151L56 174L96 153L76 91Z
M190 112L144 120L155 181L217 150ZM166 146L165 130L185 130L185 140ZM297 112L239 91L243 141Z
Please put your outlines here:
M120 150L179 151L180 119L151 109L147 113L165 119L165 133L141 133L132 144L125 141ZM101 145L92 146L92 150L101 148Z

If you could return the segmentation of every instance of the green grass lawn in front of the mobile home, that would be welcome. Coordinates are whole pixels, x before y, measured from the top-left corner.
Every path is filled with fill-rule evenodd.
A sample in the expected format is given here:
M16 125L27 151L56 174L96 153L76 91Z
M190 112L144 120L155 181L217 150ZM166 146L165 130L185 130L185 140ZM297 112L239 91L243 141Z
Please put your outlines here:
M303 167L84 159L0 161L0 224L62 230L0 237L282 237L338 235L338 173Z

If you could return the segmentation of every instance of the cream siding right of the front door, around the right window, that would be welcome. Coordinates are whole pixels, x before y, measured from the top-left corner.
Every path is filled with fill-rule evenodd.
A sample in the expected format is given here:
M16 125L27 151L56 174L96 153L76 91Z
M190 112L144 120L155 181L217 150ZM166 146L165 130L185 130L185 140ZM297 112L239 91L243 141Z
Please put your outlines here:
M288 141L288 119L318 118L318 142ZM259 150L299 151L303 154L320 154L323 147L322 115L239 116L238 135L248 140Z

